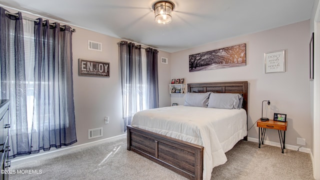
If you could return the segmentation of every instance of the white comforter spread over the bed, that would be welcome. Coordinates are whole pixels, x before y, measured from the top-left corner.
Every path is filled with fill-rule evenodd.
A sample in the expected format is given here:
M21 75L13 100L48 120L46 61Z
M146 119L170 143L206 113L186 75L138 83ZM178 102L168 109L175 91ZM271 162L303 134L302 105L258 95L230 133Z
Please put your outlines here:
M203 179L226 162L224 152L247 134L244 109L170 106L142 110L131 125L204 147Z

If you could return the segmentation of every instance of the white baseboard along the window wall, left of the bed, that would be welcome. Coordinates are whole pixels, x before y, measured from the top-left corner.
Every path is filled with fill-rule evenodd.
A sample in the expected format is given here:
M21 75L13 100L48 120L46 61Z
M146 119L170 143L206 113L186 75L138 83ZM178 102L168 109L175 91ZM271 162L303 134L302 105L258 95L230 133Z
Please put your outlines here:
M49 150L49 151L41 151L37 154L33 154L33 155L28 155L28 156L21 156L21 157L16 157L14 159L11 160L11 167L13 167L14 165L18 165L24 162L29 162L30 160L37 160L40 158L44 158L47 157L48 155L57 155L60 153L65 153L65 152L70 152L73 150L77 150L80 148L85 148L85 147L89 147L92 145L96 145L96 144L100 144L100 143L104 143L104 142L109 142L112 140L117 140L120 138L123 138L124 136L126 136L125 134L121 134L121 135L117 135L117 136L113 136L113 137L108 137L108 138L104 138L104 139L100 139L100 140L95 140L92 142L87 142L87 143L83 143L83 144L79 144L79 145L74 145L74 146L69 146L69 147L61 147L58 149L53 149L53 150Z

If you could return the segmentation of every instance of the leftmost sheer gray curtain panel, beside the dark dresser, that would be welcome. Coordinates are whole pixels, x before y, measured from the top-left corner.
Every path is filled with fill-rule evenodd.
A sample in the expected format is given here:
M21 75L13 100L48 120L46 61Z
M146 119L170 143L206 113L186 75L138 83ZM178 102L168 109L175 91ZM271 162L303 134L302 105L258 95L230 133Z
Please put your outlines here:
M22 16L5 11L0 7L1 98L10 99L10 153L24 155L29 154L29 138Z

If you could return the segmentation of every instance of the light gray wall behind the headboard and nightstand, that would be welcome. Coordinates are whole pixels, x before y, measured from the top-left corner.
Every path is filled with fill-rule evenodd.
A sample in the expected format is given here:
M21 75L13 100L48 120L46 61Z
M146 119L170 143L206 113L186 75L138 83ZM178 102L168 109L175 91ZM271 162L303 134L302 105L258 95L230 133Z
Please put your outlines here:
M309 20L257 33L212 42L171 54L171 77L183 76L186 83L248 81L248 125L261 116L261 101L270 100L268 117L273 112L287 114L286 144L297 145L296 137L311 144L309 82ZM246 66L206 71L188 71L188 55L246 43ZM285 49L285 72L264 73L264 53ZM184 95L171 95L171 102L183 104ZM258 138L258 128L248 131ZM279 142L276 130L267 130L266 139ZM300 145L298 145L300 146Z

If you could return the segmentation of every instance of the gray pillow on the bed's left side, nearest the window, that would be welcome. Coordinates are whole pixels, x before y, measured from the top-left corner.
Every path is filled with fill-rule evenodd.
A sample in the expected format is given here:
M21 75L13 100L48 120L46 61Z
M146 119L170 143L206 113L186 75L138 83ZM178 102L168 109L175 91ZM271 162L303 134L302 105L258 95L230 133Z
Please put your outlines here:
M206 107L211 92L192 93L186 92L184 105Z

